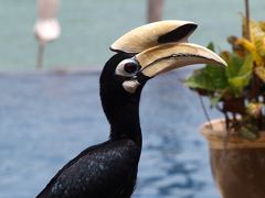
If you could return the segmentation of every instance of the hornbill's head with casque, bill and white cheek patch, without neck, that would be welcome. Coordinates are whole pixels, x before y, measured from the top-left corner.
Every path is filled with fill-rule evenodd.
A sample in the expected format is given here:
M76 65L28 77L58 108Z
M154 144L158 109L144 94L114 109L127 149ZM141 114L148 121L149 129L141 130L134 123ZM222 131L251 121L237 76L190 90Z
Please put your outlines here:
M117 52L102 73L100 84L119 94L138 94L146 81L159 74L192 64L226 63L212 51L188 42L197 24L160 21L139 26L119 37L110 50Z

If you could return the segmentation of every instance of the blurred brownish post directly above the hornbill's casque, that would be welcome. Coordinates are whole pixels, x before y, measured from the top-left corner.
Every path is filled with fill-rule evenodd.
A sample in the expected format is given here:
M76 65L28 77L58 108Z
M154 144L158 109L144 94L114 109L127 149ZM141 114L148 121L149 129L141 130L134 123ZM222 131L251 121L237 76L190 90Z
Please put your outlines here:
M162 19L163 0L148 0L147 22L151 23Z

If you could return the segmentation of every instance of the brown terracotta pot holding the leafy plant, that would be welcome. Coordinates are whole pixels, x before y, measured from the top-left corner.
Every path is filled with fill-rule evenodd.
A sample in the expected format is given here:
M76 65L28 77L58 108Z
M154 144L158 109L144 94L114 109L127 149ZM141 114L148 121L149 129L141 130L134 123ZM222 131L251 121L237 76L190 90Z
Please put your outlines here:
M211 168L222 198L265 198L265 132L247 141L227 132L223 120L201 128L210 147Z

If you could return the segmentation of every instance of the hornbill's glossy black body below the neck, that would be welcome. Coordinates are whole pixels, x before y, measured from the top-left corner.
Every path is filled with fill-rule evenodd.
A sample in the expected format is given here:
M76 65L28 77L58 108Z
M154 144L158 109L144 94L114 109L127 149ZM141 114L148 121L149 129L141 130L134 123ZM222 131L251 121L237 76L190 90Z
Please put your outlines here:
M131 140L108 141L70 161L36 198L129 198L140 147Z

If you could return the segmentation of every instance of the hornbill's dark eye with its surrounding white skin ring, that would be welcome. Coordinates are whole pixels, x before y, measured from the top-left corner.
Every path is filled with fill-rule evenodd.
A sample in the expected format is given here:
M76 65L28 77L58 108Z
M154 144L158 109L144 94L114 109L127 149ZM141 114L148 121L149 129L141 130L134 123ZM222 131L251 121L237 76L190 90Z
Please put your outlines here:
M115 74L125 77L135 76L135 74L139 70L139 65L136 61L128 58L124 59L116 67Z

